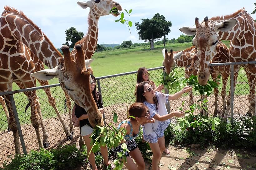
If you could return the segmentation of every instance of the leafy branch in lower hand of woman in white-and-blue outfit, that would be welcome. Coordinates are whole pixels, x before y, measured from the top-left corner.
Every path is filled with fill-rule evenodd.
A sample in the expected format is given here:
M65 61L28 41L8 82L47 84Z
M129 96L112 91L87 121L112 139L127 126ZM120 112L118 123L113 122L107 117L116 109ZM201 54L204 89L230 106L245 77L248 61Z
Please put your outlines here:
M198 102L201 100L198 100L197 103L194 103L190 106L190 110L184 111L185 117L178 117L178 125L175 126L175 130L180 129L182 132L184 132L188 128L199 128L199 131L204 131L204 129L209 129L208 122L212 122L211 129L215 131L216 125L219 125L220 119L218 117L204 117L203 115L194 115L193 112L196 109L205 109L207 111L206 103L208 100L204 99L200 104ZM183 109L183 105L185 102L181 104L181 107L178 108L179 110ZM211 120L212 119L212 120Z

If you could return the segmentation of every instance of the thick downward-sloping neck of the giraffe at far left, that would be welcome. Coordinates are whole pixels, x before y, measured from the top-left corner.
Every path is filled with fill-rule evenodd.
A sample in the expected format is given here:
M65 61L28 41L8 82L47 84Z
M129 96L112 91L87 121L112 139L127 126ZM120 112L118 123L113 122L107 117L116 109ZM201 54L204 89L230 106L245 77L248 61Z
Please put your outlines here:
M41 29L27 18L22 12L6 7L0 18L1 32L5 34L4 44L15 44L21 41L25 44L47 67L57 66L61 53L53 46Z

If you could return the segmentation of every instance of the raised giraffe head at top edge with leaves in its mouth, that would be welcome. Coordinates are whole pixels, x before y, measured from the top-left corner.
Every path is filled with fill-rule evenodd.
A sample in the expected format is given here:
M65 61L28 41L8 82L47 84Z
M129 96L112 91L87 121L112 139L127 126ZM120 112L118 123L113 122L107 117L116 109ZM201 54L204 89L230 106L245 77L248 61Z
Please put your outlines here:
M122 7L119 3L112 1L112 0L90 0L87 2L77 2L78 5L80 5L83 9L86 9L87 7L90 8L90 11L95 16L104 16L109 15L109 11L116 7L119 11L122 11ZM112 13L114 16L118 16L120 13Z

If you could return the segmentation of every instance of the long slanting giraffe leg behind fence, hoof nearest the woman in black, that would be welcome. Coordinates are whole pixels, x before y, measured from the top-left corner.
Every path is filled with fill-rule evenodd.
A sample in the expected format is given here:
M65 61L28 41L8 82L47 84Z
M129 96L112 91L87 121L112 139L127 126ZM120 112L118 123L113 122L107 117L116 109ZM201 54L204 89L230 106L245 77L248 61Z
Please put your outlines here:
M43 81L43 80L38 80L38 82L41 84L41 85L48 85L48 81ZM52 96L51 94L51 90L50 88L46 88L44 89L47 97L48 97L48 102L50 103L50 105L54 108L55 110L55 113L57 114L59 120L61 121L61 124L62 124L62 127L63 127L63 130L64 132L66 133L66 137L68 140L72 140L73 139L73 134L71 134L69 131L68 131L68 127L66 126L66 124L64 123L64 120L62 119L61 115L60 115L60 112L59 110L57 109L56 107L56 101L55 101L55 98Z

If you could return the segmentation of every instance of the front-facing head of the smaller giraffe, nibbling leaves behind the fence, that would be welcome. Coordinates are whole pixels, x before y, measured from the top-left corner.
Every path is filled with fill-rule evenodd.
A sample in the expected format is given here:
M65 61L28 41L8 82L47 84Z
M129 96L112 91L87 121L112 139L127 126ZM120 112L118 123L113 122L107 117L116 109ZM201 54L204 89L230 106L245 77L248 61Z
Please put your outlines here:
M164 56L164 61L162 62L162 65L165 67L165 72L167 74L170 74L173 67L176 66L176 61L174 60L173 57L173 51L171 49L170 52L168 53L168 50L164 48L162 50L162 54Z

